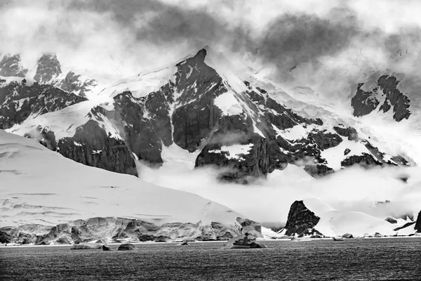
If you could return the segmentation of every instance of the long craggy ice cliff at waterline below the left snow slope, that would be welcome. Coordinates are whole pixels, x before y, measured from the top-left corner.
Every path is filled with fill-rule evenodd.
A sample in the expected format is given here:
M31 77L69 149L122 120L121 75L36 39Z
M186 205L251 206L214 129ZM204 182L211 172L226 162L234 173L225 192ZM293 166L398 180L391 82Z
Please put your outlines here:
M248 220L244 220L248 221ZM255 223L257 226L258 223ZM262 233L258 232L258 237ZM15 228L0 228L0 239L4 242L22 244L53 244L68 241L71 244L91 241L104 242L166 242L180 237L189 240L229 240L241 235L241 230L233 222L225 225L212 222L203 223L163 223L161 225L131 218L97 217L60 223L53 228L39 225L25 225ZM93 244L93 243L88 243ZM102 246L102 245L100 245Z

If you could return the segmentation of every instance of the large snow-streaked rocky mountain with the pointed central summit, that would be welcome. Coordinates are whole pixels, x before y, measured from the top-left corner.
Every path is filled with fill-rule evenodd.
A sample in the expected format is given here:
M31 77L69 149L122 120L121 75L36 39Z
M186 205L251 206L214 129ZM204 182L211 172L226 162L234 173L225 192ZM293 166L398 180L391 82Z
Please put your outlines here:
M159 166L171 145L195 155L194 166L222 168L220 178L241 183L287 164L313 176L353 164L414 164L410 145L396 148L399 141L341 114L307 86L287 93L263 70L245 69L236 72L224 55L203 48L156 71L74 91L57 83L58 58L43 55L34 79L67 91L68 106L29 111L4 128L76 162L123 174L135 174L135 159ZM10 96L10 84L3 85ZM88 100L72 103L75 93ZM393 95L387 100L395 104Z

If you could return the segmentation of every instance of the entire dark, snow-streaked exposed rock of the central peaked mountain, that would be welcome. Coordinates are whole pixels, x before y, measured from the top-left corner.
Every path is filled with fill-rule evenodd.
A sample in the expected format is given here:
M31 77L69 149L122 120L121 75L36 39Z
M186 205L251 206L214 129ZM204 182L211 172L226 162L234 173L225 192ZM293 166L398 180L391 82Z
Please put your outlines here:
M300 117L248 81L243 82L246 91L234 93L205 58L203 49L178 63L175 81L145 97L135 98L129 91L114 97L113 118L121 120L128 148L139 159L160 164L163 145L175 143L189 152L200 150L195 166L223 168L220 178L228 181L246 183L248 177L266 176L302 159L309 174L333 171L321 151L338 145L342 141L338 134L314 128L306 137L287 140L279 131L323 122ZM234 95L241 114L227 115L216 105L224 94ZM232 145L247 150L229 155Z

